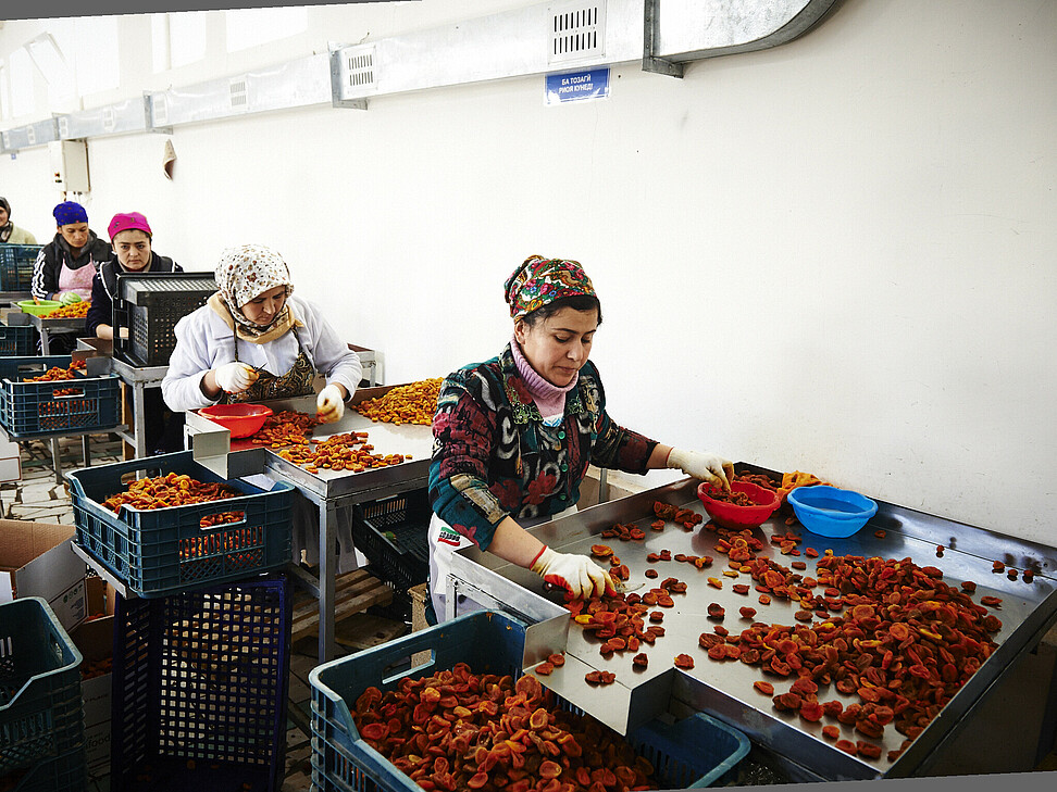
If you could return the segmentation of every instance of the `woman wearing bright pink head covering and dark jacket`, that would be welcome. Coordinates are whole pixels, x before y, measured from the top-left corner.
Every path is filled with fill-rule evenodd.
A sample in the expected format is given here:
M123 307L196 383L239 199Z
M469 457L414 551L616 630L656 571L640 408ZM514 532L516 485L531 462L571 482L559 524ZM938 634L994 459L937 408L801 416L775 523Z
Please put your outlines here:
M117 276L124 273L181 273L179 264L151 250L153 234L150 224L139 212L115 214L107 229L114 254L99 265L91 281L91 307L85 320L88 336L114 337L114 299L117 297ZM151 453L179 451L183 448L183 414L165 408L159 388L144 391L144 419L147 449Z

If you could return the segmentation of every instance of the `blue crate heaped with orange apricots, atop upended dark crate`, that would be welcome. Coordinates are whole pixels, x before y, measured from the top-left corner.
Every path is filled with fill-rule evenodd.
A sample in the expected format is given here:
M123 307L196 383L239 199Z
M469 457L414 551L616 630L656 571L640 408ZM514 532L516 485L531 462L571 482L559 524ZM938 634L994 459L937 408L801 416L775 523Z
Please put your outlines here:
M198 481L225 482L245 494L150 511L122 506L119 514L102 505L138 472L151 478L186 474ZM77 544L139 596L241 580L290 563L294 487L286 481L268 491L238 479L227 481L195 462L190 451L86 467L67 478ZM243 518L201 527L203 518L225 512L240 512Z

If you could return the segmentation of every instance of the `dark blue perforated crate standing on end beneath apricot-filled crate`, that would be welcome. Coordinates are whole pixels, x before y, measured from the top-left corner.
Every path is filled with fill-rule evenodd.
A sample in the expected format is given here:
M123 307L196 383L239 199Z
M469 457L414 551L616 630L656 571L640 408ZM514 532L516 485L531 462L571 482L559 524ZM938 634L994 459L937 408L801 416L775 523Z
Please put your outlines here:
M284 576L153 600L119 596L112 792L277 792L293 596Z

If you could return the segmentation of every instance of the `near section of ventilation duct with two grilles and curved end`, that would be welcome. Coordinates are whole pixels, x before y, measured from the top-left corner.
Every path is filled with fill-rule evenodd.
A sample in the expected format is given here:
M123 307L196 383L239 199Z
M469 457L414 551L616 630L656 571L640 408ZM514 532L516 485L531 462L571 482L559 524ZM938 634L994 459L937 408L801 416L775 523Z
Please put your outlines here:
M776 47L835 0L575 0L337 48L335 104L373 96L641 61L682 76L689 61ZM372 79L347 64L370 47Z

